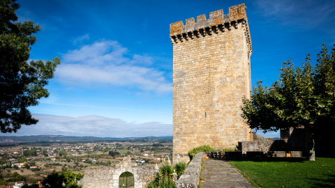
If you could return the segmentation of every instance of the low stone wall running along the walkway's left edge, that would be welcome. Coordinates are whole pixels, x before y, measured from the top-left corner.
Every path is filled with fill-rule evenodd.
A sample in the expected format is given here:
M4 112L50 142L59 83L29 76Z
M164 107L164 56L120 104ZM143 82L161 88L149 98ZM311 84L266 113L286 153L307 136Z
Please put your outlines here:
M177 180L177 188L197 188L199 184L199 178L201 173L201 162L202 158L206 156L205 152L198 152L197 155L192 159L190 164L184 171L184 175L181 175Z

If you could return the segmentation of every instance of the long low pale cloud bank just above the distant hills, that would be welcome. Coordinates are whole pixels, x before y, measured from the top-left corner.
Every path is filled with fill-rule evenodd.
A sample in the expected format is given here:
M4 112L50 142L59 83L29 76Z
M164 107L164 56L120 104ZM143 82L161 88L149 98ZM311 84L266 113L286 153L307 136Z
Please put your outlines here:
M142 137L172 136L172 125L157 122L126 123L117 118L103 116L54 116L33 114L39 122L36 125L23 125L17 133L5 136L24 135L64 135L64 136L99 136L99 137Z

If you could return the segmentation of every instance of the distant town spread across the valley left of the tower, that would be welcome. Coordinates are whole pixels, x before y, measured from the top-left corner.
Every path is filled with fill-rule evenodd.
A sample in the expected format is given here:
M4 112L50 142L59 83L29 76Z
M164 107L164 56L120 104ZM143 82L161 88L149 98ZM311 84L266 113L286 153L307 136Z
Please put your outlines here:
M114 166L126 156L138 165L156 164L172 156L172 136L38 142L13 142L10 138L13 136L5 140L3 137L0 139L0 187L20 187L23 183L44 187L43 178L53 171L83 174L89 166Z

